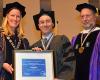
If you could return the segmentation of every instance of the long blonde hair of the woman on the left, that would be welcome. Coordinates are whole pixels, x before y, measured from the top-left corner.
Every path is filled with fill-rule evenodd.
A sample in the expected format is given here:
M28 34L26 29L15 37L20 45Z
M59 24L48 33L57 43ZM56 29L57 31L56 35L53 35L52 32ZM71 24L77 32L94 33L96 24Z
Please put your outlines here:
M7 16L4 18L3 24L2 24L2 28L4 30L3 34L7 35L7 36L12 36L14 35L14 32L11 31L8 22L7 22ZM17 28L17 32L18 32L18 36L19 37L23 37L24 36L24 31L23 31L23 27L22 27L22 19L20 20L20 24L18 25Z

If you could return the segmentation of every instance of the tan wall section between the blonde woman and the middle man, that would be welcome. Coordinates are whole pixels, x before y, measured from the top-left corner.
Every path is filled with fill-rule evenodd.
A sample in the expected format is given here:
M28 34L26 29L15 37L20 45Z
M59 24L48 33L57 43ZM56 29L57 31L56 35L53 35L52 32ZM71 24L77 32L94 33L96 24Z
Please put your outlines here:
M28 38L30 45L36 40L40 39L40 32L36 31L33 15L37 14L40 10L40 0L3 0L3 7L6 3L18 1L26 7L26 15L23 18L23 26L25 37Z

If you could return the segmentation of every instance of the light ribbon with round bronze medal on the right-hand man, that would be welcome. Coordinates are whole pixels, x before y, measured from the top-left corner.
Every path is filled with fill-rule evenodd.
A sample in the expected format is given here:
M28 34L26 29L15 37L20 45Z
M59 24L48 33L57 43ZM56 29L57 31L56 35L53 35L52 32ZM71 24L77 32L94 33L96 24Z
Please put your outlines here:
M93 27L86 35L86 37L83 39L83 33L82 33L82 36L81 36L81 46L79 48L79 53L82 54L83 51L84 51L84 47L83 47L83 44L85 43L86 39L88 38L88 36L90 35L90 33L95 29L95 27Z

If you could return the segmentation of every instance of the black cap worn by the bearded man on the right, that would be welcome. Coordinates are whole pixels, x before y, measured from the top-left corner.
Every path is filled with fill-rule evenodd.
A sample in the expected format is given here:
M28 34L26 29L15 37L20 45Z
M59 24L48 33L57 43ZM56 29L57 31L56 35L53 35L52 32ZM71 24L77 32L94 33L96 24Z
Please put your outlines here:
M96 7L89 3L78 4L76 7L76 10L81 12L81 10L84 8L88 8L88 9L92 10L94 13L97 13Z

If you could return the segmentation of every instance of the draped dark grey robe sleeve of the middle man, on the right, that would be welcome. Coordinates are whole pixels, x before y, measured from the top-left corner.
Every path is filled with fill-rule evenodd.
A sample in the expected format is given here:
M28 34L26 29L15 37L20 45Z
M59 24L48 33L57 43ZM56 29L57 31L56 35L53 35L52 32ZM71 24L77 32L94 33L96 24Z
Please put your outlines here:
M75 73L75 59L74 59L74 52L72 45L69 41L69 39L63 35L62 38L63 41L63 64L65 66L65 72L66 77L68 77L68 80L74 79L74 73Z

